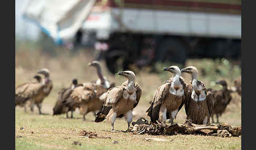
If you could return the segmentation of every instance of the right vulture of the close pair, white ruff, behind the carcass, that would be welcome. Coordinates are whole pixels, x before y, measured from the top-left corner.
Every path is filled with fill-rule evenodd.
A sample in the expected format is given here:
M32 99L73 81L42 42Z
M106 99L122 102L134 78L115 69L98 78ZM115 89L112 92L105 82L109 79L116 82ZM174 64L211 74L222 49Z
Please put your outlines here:
M206 91L204 83L198 80L198 70L194 66L183 68L181 72L189 73L192 77L192 90L184 102L186 119L194 124L209 124L213 111L212 93Z

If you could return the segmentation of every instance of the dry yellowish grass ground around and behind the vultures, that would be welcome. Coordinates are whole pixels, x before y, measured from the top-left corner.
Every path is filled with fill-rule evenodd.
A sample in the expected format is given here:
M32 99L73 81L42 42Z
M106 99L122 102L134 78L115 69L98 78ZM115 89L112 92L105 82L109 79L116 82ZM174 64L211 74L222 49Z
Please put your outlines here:
M54 88L51 94L44 100L42 112L48 115L38 115L37 109L34 113L24 113L23 108L17 106L15 112L15 146L16 149L241 149L241 137L213 137L199 135L175 135L175 136L151 136L133 135L132 133L110 133L110 124L106 121L101 123L93 122L94 116L88 114L86 121L82 121L82 116L75 112L76 119L66 119L65 114L52 116L52 109L57 99L57 92L61 88L70 85L71 80L78 79L78 82L88 82L97 79L94 68L87 66L91 61L91 52L77 52L73 55L68 51L60 51L57 57L50 57L40 51L17 50L15 55L15 85L26 81L31 81L35 72L41 68L48 68L51 71L51 79ZM224 60L223 60L224 62ZM112 75L106 70L103 64L104 76L115 83L121 84L125 79ZM233 85L233 79L241 76L239 68L223 65L222 61L212 60L189 60L186 66L194 65L199 69L206 69L207 76L199 76L200 80L206 83L207 88L220 89L212 84L212 81L227 79ZM159 65L159 70L164 65ZM165 65L166 66L166 65ZM167 65L169 66L169 65ZM212 71L212 68L219 68L221 75ZM226 70L229 71L226 71ZM145 110L152 100L153 94L159 85L171 75L168 72L160 74L149 73L146 69L137 72L137 81L142 87L142 97L139 105L134 110L134 119L146 116ZM189 76L182 74L186 82ZM182 109L175 122L185 121L185 112ZM233 100L227 111L220 117L220 122L241 126L241 97L233 93ZM21 130L21 127L24 127ZM124 119L117 119L116 130L126 130L127 124ZM88 139L78 135L80 130L95 131L100 136L110 136L111 139ZM31 131L34 133L32 134ZM22 136L22 137L17 137ZM170 142L146 142L145 137L167 138ZM81 142L82 145L72 145L74 141ZM118 144L113 144L118 141Z

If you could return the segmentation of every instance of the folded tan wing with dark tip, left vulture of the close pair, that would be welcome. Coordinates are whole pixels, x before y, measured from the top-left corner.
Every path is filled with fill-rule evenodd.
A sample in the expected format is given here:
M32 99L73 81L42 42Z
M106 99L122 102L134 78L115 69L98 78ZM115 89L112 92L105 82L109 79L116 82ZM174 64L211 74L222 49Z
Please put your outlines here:
M168 95L170 86L170 82L166 82L159 88L157 88L154 94L154 99L151 102L149 109L146 110L147 116L150 116L151 121L154 123L156 122L156 120L159 119L160 107L162 102L166 98L166 95Z

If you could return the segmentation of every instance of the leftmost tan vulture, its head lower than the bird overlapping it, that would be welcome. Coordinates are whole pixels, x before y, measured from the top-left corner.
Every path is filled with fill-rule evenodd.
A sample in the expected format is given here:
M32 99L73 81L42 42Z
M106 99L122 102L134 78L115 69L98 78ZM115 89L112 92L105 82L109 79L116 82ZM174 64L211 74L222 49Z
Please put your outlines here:
M42 97L42 92L45 87L40 76L34 76L36 81L26 82L18 85L15 90L15 107L16 105L24 106L26 112L26 102L28 100L38 99Z

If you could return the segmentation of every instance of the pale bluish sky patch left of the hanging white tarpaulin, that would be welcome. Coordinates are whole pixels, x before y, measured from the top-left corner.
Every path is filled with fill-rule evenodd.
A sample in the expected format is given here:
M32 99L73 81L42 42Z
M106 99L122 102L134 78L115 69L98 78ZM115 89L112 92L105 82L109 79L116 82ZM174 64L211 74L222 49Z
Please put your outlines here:
M16 38L37 40L40 28L22 18L26 0L15 0L15 35Z

